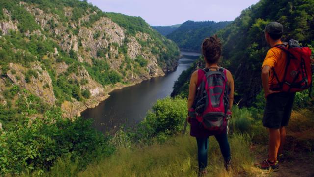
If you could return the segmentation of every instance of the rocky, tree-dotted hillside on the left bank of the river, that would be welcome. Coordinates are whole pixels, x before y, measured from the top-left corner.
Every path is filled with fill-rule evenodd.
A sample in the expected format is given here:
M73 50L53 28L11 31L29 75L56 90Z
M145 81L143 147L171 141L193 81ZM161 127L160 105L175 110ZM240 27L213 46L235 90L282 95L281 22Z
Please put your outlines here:
M178 56L142 18L86 0L0 0L0 122L55 105L77 116L112 89L173 70Z

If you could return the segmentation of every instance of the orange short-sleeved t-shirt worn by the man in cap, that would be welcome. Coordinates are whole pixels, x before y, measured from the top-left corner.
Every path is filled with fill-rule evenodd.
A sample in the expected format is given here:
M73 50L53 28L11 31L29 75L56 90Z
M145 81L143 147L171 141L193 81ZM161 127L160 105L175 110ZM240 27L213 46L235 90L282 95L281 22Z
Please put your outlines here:
M282 44L282 43L278 43ZM273 47L268 50L267 55L264 59L262 68L264 66L269 66L270 68L274 68L279 81L283 81L285 74L285 67L287 64L286 60L286 52L282 51L277 47ZM273 73L273 70L270 70L268 85L270 89L279 88L278 81Z

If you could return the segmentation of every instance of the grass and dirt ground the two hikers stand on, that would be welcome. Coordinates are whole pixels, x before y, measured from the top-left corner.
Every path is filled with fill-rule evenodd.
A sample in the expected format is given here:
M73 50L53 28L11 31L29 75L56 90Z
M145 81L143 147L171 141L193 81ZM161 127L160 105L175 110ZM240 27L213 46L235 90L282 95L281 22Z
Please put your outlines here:
M241 122L241 118L234 121ZM265 172L254 164L267 156L267 133L260 124L251 131L229 135L233 170L226 172L219 146L209 140L208 177L313 177L314 118L308 110L294 111L287 129L286 161L278 172ZM231 123L231 126L233 123ZM255 132L255 133L250 133ZM255 135L254 135L255 134ZM127 147L127 146L126 146ZM78 172L78 164L59 161L47 176L79 177L195 177L197 176L195 138L178 135L164 143L132 148L121 147L111 157Z

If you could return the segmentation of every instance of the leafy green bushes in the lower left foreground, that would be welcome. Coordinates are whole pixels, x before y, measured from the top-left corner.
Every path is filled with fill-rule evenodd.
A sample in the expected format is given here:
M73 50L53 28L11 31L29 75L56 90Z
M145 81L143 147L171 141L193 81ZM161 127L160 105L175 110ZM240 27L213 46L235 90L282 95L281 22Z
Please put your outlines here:
M95 150L111 154L114 148L107 139L91 127L90 120L63 119L60 109L51 109L44 119L37 118L30 124L12 128L0 135L0 172L21 173L22 171L47 170L58 157L71 154L91 161L90 153Z

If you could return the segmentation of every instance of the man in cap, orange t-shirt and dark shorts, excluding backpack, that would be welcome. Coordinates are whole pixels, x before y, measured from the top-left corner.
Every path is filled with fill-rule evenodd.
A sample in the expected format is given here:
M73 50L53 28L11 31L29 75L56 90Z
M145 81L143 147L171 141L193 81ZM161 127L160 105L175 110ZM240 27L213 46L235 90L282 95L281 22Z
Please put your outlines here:
M265 92L266 107L263 125L269 130L268 158L260 168L265 170L279 170L278 157L282 157L286 139L286 129L294 102L295 93L281 92L280 84L284 77L286 53L274 47L283 44L281 37L283 26L277 22L270 22L264 29L265 38L270 49L262 64L262 86Z

